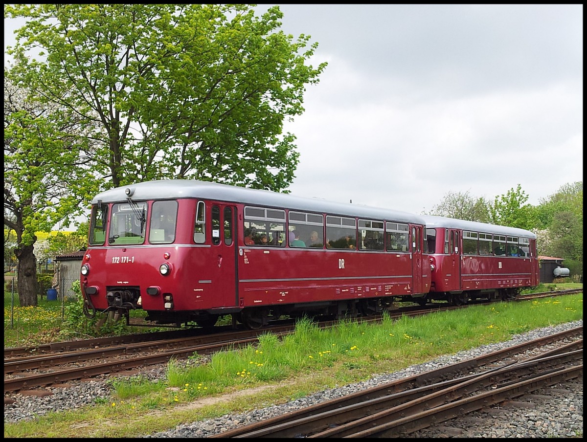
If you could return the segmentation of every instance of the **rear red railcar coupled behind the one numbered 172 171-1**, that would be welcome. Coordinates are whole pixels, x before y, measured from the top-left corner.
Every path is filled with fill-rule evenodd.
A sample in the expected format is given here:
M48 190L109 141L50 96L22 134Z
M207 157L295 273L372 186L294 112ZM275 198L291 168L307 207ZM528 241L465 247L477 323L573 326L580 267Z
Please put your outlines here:
M531 231L424 216L433 265L427 299L457 305L469 299L511 299L539 284L536 235Z

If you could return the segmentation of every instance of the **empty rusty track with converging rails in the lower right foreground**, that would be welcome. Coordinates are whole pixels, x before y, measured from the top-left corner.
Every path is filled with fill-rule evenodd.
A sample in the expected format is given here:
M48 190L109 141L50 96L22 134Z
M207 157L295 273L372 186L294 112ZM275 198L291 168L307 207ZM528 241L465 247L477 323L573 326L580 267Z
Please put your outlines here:
M583 340L567 342L578 335L582 327L211 437L407 436L582 377Z

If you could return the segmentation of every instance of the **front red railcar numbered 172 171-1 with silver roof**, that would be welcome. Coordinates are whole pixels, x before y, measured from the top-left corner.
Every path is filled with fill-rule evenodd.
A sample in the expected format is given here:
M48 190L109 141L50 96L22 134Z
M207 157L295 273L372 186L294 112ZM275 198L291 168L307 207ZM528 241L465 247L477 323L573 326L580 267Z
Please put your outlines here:
M203 181L115 188L92 201L86 314L144 309L177 326L232 315L249 328L370 315L425 299L424 230L406 212Z

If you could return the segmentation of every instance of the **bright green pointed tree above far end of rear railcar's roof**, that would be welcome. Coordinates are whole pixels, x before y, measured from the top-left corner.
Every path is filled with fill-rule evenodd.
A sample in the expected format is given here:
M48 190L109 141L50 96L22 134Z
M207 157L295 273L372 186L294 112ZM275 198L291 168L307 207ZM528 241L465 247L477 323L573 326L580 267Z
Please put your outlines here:
M520 184L506 194L495 197L494 204L490 207L490 222L532 230L537 225L537 217L535 207L525 204L528 198Z

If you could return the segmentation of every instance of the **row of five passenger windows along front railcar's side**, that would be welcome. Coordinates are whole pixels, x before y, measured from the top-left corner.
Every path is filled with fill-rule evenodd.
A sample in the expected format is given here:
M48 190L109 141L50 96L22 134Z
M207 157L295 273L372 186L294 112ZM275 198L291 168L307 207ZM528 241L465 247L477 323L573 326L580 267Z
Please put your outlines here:
M399 222L245 207L244 242L249 246L314 247L407 252L409 227Z

